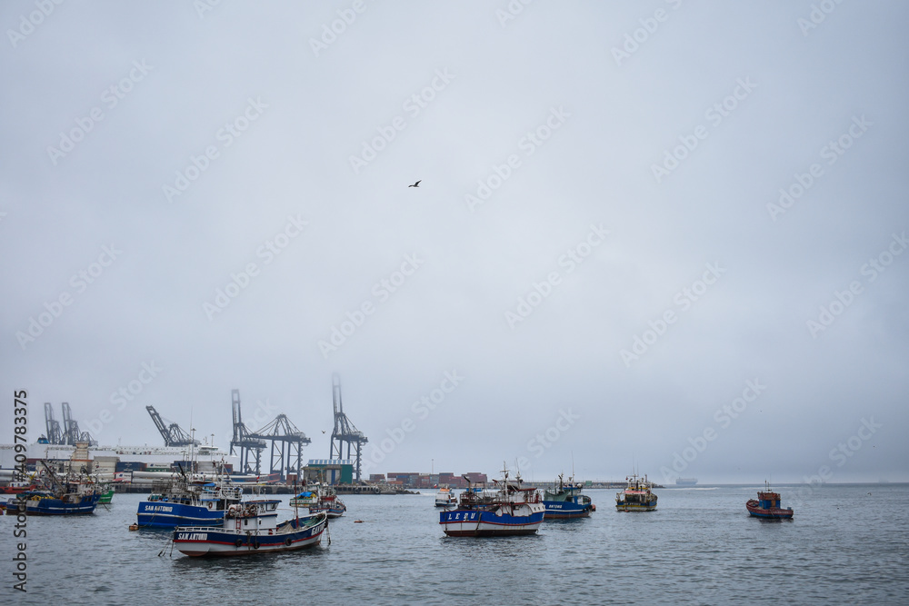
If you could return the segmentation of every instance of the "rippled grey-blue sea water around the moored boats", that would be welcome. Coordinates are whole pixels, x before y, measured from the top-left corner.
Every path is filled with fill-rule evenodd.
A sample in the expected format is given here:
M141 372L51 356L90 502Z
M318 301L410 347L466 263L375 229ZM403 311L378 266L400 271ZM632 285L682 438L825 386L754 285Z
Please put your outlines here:
M28 518L26 593L13 590L23 540L2 516L0 602L909 604L909 485L774 487L791 522L748 515L760 488L657 489L655 512L616 512L615 491L592 490L590 518L490 539L446 538L435 491L342 496L330 545L222 559L129 531L144 496L116 494L94 515Z

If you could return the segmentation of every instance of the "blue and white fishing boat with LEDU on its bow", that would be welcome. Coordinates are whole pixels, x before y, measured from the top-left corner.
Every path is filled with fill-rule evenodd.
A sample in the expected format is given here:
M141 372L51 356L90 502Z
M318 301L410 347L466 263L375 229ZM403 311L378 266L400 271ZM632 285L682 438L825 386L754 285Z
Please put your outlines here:
M521 475L494 480L498 490L492 494L468 489L453 510L439 513L439 524L450 537L497 537L534 534L545 515L540 493L533 486L521 485Z

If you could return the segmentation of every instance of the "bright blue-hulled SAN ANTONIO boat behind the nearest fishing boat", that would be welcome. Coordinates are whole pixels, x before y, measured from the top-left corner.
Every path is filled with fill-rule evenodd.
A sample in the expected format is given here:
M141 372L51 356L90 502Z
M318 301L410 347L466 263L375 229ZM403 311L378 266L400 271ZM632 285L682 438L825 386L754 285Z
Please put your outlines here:
M243 494L225 475L215 476L215 481L197 481L182 470L171 480L155 482L153 490L136 510L140 528L217 526Z

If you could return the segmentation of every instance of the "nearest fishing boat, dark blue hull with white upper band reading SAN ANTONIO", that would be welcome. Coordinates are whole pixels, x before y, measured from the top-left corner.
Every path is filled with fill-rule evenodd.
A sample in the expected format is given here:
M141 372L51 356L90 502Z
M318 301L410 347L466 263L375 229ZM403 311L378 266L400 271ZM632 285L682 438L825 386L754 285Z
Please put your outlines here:
M322 541L328 516L315 513L277 523L278 499L234 503L220 527L178 526L174 546L189 556L231 556L295 551Z

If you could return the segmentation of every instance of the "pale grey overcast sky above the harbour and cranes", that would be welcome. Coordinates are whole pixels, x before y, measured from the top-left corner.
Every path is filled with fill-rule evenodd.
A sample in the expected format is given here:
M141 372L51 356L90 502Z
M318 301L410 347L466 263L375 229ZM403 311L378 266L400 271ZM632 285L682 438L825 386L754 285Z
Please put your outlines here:
M322 458L337 372L365 473L907 481L907 19L5 2L0 442Z

